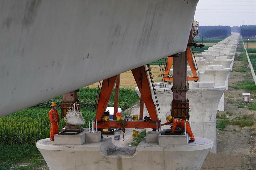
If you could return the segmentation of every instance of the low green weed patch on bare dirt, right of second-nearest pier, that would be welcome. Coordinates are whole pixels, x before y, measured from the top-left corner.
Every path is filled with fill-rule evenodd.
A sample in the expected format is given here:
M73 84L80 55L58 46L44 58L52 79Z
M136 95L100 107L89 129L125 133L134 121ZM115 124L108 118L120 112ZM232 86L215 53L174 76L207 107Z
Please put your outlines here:
M237 116L233 120L229 120L225 115L224 119L217 121L216 128L225 130L227 125L238 125L240 128L243 128L245 126L253 126L254 123L253 116L251 115Z

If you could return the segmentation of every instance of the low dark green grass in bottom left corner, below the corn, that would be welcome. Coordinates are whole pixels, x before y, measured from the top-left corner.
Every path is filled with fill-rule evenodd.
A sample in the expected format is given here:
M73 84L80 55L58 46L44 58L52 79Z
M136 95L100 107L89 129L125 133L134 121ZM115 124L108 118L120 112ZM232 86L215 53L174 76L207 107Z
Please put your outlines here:
M0 153L0 170L32 170L46 165L36 146L0 145Z

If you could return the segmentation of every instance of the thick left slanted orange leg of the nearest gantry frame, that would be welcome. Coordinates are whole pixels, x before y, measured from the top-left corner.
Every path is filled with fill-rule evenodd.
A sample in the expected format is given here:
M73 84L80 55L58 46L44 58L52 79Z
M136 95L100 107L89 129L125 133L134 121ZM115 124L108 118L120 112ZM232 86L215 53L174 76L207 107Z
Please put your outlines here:
M99 94L99 101L96 111L95 120L101 120L106 108L108 106L109 99L111 97L112 90L116 84L118 75L103 80L101 86L101 92Z

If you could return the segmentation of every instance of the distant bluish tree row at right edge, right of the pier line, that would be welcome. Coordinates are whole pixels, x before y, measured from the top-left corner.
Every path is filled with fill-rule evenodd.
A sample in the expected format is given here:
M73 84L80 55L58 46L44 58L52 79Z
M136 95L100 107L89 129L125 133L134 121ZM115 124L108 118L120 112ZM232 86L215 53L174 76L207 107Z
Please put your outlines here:
M231 32L240 33L242 37L255 37L256 25L233 26Z

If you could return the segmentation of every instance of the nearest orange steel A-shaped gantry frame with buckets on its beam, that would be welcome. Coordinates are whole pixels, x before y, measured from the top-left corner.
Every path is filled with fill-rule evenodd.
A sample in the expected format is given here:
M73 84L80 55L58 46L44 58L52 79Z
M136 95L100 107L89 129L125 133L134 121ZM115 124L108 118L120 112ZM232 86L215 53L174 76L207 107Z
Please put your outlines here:
M136 84L140 90L141 99L142 99L141 105L143 106L143 103L145 103L146 108L148 109L151 121L149 121L149 122L142 121L142 117L143 117L143 107L142 107L142 109L140 109L139 121L132 121L132 122L127 121L124 128L156 129L156 122L158 122L157 124L158 124L158 128L159 128L160 121L158 119L155 104L154 104L152 96L151 96L151 87L149 84L148 74L145 69L145 66L143 65L136 69L132 69L132 74L133 74ZM121 122L115 121L117 107L118 107L119 83L120 83L120 75L116 75L116 76L107 78L107 79L103 80L103 82L102 82L102 87L101 87L101 92L99 94L99 100L98 100L96 117L95 117L95 120L97 120L97 122L98 122L99 129L101 129L101 128L122 128ZM104 121L102 121L102 117L103 117L103 114L106 111L106 108L108 106L108 102L110 100L110 96L112 94L114 86L116 86L116 89L115 89L113 121L104 122Z

